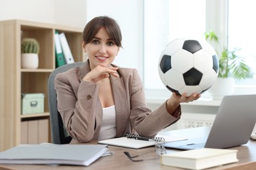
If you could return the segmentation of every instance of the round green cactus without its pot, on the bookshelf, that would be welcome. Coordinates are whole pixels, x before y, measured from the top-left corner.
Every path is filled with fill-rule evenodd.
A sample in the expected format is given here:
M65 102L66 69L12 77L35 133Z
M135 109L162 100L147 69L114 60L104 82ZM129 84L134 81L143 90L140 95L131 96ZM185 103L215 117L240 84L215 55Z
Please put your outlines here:
M22 53L35 53L39 54L39 43L36 39L24 38L21 42Z

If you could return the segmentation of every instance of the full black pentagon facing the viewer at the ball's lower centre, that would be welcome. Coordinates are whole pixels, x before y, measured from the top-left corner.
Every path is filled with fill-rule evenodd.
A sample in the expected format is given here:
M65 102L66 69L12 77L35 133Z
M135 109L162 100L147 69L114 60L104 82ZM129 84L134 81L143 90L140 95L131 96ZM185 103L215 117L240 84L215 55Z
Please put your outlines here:
M197 86L200 84L203 73L195 69L194 67L183 74L184 82L187 86Z

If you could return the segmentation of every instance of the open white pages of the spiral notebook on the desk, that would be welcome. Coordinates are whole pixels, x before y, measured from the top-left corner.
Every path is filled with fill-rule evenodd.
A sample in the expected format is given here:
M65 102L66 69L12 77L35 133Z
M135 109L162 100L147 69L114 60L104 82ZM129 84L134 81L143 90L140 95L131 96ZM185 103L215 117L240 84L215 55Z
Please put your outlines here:
M171 137L171 136L165 136L165 135L157 135L156 137L164 138L165 141L163 142L174 142L174 141L182 141L186 140L187 138L184 137ZM106 139L103 141L98 141L99 144L109 144L113 146L121 146L125 148L144 148L148 146L154 146L156 144L155 141L144 141L144 140L137 140L133 138L127 138L127 137L118 137L114 139Z

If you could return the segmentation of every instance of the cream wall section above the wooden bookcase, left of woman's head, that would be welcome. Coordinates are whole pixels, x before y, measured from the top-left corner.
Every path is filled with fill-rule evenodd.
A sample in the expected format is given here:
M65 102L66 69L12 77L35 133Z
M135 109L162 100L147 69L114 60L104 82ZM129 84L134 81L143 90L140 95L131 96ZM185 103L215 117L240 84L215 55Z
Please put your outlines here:
M85 4L85 0L0 0L0 20L20 19L83 27Z

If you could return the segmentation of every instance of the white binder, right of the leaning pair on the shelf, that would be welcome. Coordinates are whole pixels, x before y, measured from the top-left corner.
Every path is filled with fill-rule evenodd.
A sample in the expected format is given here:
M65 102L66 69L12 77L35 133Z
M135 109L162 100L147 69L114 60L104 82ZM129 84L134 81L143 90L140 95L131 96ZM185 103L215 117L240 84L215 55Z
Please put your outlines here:
M75 61L72 56L70 46L68 46L68 41L66 39L65 33L60 33L59 36L60 36L60 45L61 45L66 63L74 63Z

